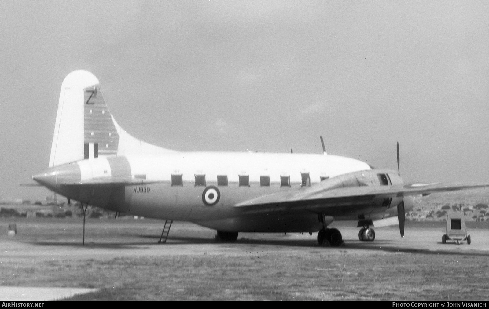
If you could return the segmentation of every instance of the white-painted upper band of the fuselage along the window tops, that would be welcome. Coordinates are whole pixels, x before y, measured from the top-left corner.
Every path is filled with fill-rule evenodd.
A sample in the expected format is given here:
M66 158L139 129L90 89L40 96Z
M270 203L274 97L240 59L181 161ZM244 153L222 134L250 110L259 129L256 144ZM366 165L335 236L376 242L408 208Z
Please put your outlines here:
M171 181L171 175L182 175L184 182L193 182L195 175L205 175L206 181L215 182L218 175L227 175L232 183L238 182L241 175L249 176L253 183L259 182L261 176L269 176L271 183L280 183L281 176L289 176L291 183L300 183L302 174L309 173L311 183L316 183L321 177L370 170L365 162L335 155L182 152L126 158L132 178L145 175L146 180L157 181ZM79 165L82 181L111 175L106 157L79 161Z

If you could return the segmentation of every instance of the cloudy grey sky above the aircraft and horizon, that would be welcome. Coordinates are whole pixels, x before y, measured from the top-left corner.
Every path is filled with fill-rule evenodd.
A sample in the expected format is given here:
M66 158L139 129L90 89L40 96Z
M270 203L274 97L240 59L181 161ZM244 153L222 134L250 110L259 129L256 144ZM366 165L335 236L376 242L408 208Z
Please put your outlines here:
M489 182L488 1L1 1L0 198L49 161L61 83L179 151L322 153Z

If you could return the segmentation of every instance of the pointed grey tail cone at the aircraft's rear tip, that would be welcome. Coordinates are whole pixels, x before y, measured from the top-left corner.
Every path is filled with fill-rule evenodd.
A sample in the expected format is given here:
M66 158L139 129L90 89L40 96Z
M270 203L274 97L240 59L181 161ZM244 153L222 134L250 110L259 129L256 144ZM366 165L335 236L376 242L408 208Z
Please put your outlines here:
M80 182L80 167L76 163L68 163L44 171L44 173L32 175L32 179L45 187L55 188L62 184L76 184Z

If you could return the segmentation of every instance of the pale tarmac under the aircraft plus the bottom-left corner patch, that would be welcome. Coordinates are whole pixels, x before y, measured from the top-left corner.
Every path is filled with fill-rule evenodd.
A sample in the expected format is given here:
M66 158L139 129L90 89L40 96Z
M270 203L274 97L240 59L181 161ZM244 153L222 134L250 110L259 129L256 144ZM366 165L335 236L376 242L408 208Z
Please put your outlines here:
M17 235L7 236L10 223L17 224ZM351 223L351 222L350 222ZM487 223L487 222L485 222ZM334 225L334 224L333 224ZM352 226L353 225L353 226ZM215 230L190 222L174 222L166 243L158 243L163 222L157 220L87 221L82 245L81 220L0 219L0 262L6 260L111 259L167 255L263 255L273 253L307 254L422 254L485 255L489 257L489 224L469 228L471 243L442 243L445 223L406 222L404 237L399 227L376 228L374 242L358 240L355 224L336 227L343 236L339 247L319 246L317 233L240 233L236 242L214 240ZM0 287L0 300L53 300L90 292L93 289L59 287Z

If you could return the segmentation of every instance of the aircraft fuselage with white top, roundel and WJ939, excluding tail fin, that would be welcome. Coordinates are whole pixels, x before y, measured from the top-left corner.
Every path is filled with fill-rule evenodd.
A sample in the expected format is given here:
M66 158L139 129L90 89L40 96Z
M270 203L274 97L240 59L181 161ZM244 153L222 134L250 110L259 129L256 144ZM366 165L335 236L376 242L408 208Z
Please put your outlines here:
M321 229L315 213L240 216L234 205L369 170L365 162L336 155L176 152L80 160L33 178L67 198L134 215L221 230L314 231Z

